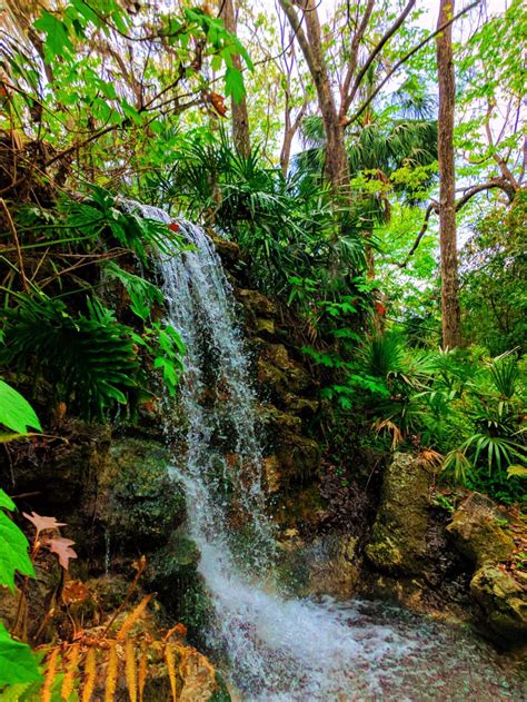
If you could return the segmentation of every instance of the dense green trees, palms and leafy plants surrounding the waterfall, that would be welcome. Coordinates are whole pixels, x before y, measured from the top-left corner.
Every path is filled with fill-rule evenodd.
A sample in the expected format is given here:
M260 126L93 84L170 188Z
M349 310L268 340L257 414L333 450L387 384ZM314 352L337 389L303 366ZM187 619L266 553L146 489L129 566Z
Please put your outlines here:
M135 198L240 246L320 378L329 454L407 446L525 506L523 3L232 4L0 11L0 441L177 393L153 261L186 243ZM12 589L36 551L0 507ZM30 690L27 646L0 645L0 688Z

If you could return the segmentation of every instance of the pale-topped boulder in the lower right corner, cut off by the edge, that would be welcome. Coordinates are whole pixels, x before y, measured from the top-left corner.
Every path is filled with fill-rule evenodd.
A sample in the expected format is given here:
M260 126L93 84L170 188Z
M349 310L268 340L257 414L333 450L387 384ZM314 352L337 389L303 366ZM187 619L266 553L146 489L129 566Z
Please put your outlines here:
M487 564L476 572L470 592L495 634L515 645L527 643L527 573Z

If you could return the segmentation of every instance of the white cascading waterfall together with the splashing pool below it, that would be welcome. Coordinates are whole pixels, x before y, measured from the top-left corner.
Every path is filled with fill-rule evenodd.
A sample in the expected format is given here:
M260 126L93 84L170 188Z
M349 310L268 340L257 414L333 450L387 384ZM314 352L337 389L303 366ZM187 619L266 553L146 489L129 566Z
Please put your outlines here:
M130 206L130 204L128 204ZM133 205L169 224L166 212ZM382 604L284 597L274 585L257 404L221 263L205 231L179 223L191 250L160 264L168 322L187 347L180 411L187 496L216 625L242 700L505 700L493 651L457 629Z

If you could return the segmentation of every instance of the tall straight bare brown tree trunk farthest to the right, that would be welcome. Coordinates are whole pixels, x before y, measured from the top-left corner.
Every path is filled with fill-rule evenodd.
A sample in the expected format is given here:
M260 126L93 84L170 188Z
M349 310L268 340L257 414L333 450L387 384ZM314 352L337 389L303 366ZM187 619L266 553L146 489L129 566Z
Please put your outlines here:
M454 13L455 0L440 0L438 27ZM454 162L454 109L456 83L453 62L451 24L437 36L437 77L439 86L439 247L441 255L443 345L461 344L458 259L456 241L456 180Z

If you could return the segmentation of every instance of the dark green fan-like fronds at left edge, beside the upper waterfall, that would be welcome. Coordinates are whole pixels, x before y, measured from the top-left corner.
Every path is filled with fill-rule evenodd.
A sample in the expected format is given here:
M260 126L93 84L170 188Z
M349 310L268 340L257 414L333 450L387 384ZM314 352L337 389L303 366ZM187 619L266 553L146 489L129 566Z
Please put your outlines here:
M56 399L87 418L102 418L132 399L139 360L130 327L95 298L87 300L87 314L77 316L44 295L20 295L18 301L2 310L2 365L44 372Z

